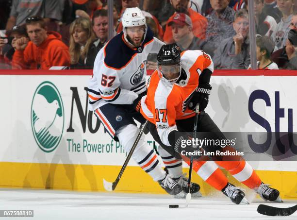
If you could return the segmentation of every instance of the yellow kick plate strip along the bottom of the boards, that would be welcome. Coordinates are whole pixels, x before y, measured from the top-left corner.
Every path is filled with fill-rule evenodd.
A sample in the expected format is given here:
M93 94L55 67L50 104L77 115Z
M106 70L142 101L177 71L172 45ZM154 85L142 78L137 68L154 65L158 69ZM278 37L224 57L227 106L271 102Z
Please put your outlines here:
M0 187L105 191L102 179L114 181L120 169L121 166L0 162ZM184 172L188 170L183 169ZM297 172L256 172L264 183L280 190L282 199L297 199ZM240 186L228 172L224 173L231 183ZM193 181L201 186L203 195L215 191L197 174L193 175ZM165 194L159 184L139 167L127 167L115 191Z

